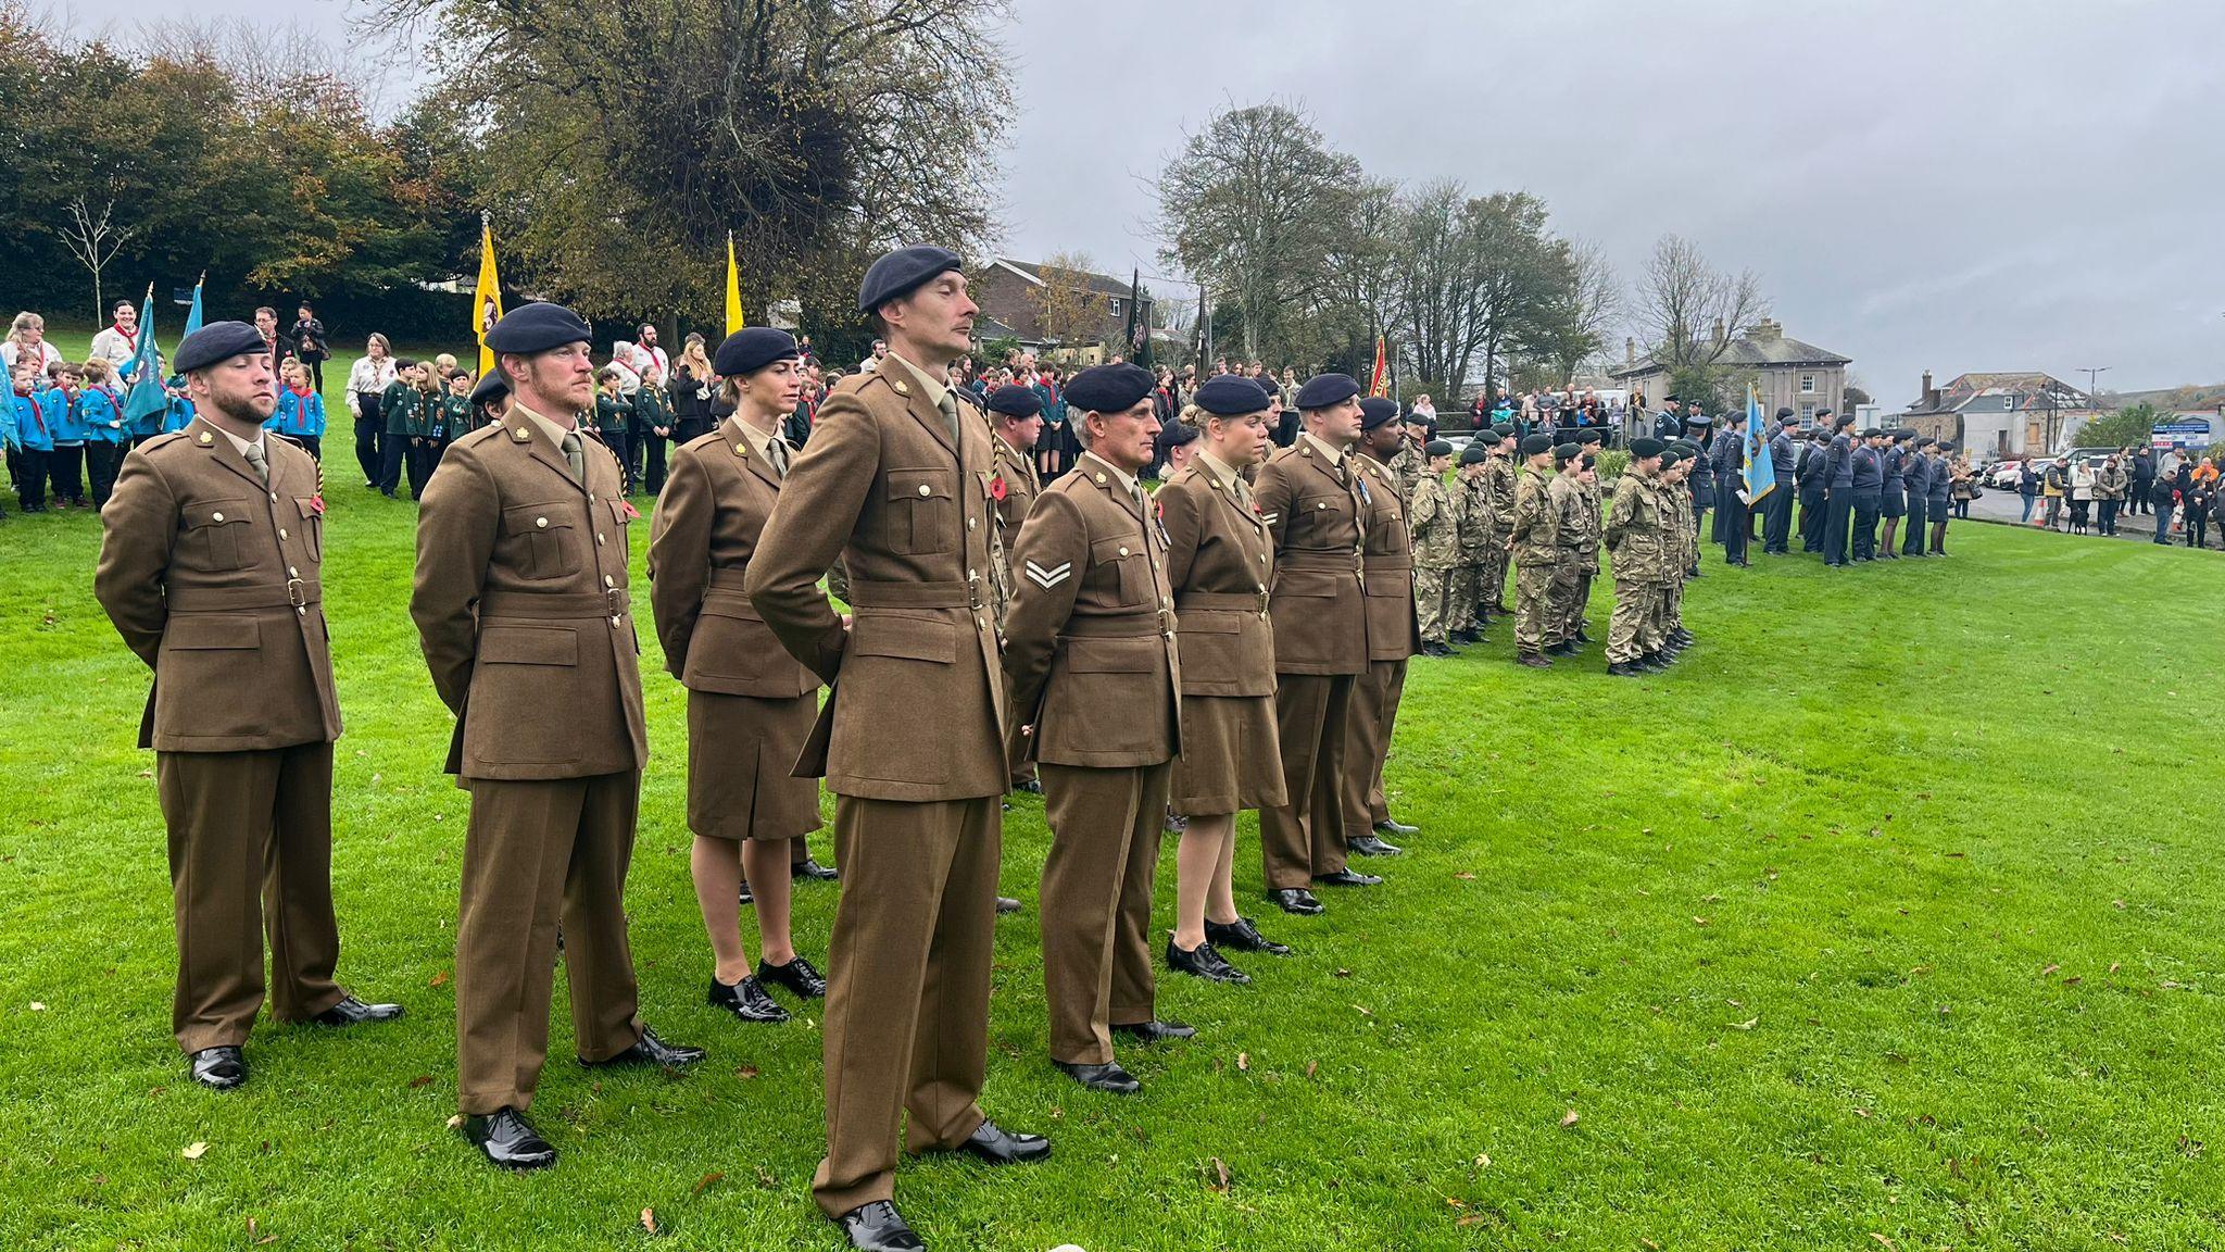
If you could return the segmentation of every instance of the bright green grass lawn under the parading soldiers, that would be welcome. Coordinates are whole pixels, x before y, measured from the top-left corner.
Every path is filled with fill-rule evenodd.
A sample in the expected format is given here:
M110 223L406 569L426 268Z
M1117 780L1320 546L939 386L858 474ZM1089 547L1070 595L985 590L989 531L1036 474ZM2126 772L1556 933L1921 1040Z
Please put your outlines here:
M603 1250L652 1243L643 1210L672 1248L839 1245L808 1196L814 1023L703 1005L683 693L645 624L634 953L647 1020L710 1060L583 1072L558 980L536 1114L563 1163L503 1176L447 1129L467 798L405 613L414 506L334 457L340 976L409 1016L265 1025L243 1092L185 1080L147 673L89 595L96 519L11 517L0 1248ZM1515 668L1504 628L1420 662L1391 791L1424 833L1382 889L1290 920L1246 822L1239 898L1299 953L1244 960L1242 989L1166 978L1199 1036L1124 1047L1139 1098L1046 1060L1044 809L1017 800L1030 911L999 922L983 1103L1057 1154L908 1163L908 1216L934 1248L1090 1252L2218 1245L2225 564L1969 524L1951 546L1709 566L1700 646L1644 682L1598 648ZM821 958L834 891L797 911Z

